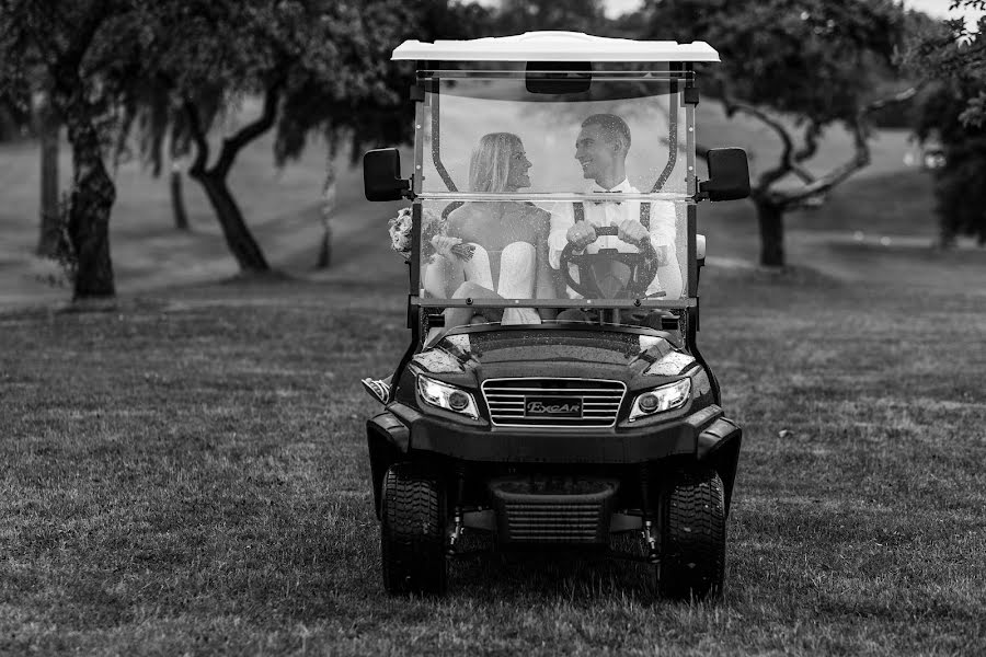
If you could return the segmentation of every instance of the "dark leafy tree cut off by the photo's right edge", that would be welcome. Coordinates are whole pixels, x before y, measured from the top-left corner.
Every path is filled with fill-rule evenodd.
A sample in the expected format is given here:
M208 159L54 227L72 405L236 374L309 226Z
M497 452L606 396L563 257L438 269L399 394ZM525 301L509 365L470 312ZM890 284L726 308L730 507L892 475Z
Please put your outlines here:
M952 9L986 10L986 0L953 0ZM935 171L941 244L960 234L986 244L986 18L976 30L961 20L926 30L907 53L914 71L931 84L924 95L915 132L935 135L944 165Z

